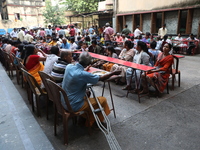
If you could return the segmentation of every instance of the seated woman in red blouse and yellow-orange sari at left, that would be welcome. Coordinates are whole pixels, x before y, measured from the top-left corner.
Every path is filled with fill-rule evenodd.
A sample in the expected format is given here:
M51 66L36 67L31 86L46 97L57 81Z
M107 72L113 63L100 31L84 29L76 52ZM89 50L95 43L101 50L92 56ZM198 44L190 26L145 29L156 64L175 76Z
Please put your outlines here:
M30 44L25 47L25 59L24 59L24 66L26 67L27 71L35 77L36 81L39 85L41 85L41 78L38 74L38 71L44 70L44 65L40 61L46 60L46 54L40 50L36 49L34 45ZM37 55L37 52L41 52L43 57Z

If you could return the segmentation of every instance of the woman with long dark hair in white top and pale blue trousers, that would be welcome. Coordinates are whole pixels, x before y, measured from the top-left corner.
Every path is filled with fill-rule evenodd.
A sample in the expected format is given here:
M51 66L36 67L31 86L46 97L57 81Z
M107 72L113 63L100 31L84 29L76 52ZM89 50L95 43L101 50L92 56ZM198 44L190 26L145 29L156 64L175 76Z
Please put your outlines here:
M137 43L137 47L136 47L137 52L135 53L135 56L133 58L133 62L136 64L142 64L142 65L146 65L146 66L150 66L150 62L149 62L149 52L148 52L148 48L146 43L142 42L142 41L138 41ZM140 78L140 73L141 70L136 70L136 75L137 75L137 80L139 81ZM133 74L133 75L132 75ZM131 76L132 76L132 80L131 80ZM132 68L128 68L126 70L126 87L123 88L123 90L128 90L131 88L135 88L136 85L136 77L135 77L135 73L133 73L133 69ZM132 84L130 84L132 81Z

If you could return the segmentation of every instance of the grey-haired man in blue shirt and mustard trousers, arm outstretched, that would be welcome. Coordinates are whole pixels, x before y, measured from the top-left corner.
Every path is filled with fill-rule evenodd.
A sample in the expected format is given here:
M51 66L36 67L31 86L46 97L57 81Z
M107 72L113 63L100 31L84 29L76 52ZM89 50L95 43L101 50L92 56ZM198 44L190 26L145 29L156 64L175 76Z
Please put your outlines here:
M79 57L79 63L76 65L69 64L65 69L65 74L63 78L62 88L66 91L68 95L68 100L74 111L87 111L89 113L90 122L86 122L86 126L92 126L95 122L94 116L91 112L90 106L85 98L86 87L88 83L96 84L98 81L103 81L111 77L112 75L118 75L120 71L114 71L109 74L99 76L91 74L86 70L89 69L92 57L88 52L82 52ZM110 114L110 109L105 97L97 97L100 104L104 108L105 114ZM89 98L91 104L96 109L98 104L94 98ZM61 99L63 107L66 108L66 104L63 99ZM98 113L99 119L103 122L103 116Z

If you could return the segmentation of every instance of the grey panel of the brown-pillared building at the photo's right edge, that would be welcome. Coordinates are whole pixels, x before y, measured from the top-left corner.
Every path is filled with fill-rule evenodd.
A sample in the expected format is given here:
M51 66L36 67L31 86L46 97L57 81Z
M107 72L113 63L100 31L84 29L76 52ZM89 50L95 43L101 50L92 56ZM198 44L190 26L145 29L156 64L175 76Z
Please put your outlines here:
M198 33L199 24L200 24L200 9L195 9L193 20L192 20L192 33L195 35L200 34Z

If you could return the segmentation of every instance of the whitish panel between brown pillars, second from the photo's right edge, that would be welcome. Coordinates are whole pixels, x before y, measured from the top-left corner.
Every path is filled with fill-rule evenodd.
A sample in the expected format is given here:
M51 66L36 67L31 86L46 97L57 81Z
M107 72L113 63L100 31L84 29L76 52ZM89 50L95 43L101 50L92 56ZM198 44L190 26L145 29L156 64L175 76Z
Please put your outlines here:
M177 11L165 12L165 23L168 34L177 33L177 24L178 24L177 18L178 18Z

